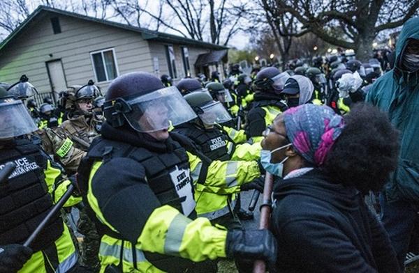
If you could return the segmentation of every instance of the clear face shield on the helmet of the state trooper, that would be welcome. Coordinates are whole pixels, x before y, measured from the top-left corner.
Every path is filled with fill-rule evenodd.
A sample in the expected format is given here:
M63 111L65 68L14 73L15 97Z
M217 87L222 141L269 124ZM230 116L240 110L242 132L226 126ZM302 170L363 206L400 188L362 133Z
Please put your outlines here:
M138 132L168 130L170 126L196 118L195 112L175 86L161 88L124 102L128 105L122 114Z

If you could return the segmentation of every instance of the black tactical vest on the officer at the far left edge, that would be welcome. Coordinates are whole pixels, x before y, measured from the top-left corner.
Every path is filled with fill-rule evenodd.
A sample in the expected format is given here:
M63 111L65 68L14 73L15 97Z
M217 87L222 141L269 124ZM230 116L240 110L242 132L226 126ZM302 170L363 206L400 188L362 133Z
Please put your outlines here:
M38 146L27 139L0 149L0 168L15 162L15 171L0 185L0 245L23 244L52 208L52 197L43 170L47 160ZM64 231L59 213L31 244L35 251L45 249Z

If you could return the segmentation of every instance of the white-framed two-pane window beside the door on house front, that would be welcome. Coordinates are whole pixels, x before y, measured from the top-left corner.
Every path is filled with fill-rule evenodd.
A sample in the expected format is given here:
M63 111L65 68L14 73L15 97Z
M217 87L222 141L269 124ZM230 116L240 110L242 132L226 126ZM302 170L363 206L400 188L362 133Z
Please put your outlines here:
M104 49L98 52L91 52L91 63L93 63L96 81L111 81L118 77L117 60L114 49Z

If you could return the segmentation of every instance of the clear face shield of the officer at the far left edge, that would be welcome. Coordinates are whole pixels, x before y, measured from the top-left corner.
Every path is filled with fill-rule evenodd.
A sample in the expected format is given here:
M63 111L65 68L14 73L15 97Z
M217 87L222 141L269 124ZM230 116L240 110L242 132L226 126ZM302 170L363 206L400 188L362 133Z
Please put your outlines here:
M0 139L10 139L38 130L21 100L0 101Z

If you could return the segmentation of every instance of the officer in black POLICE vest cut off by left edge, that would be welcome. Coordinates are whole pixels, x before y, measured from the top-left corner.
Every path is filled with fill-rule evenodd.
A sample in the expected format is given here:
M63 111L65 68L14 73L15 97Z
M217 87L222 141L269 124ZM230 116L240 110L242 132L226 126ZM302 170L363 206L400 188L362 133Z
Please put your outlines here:
M5 96L4 89L0 93L0 169L7 162L16 165L0 184L0 272L78 272L78 254L59 214L30 249L22 246L71 182L27 139L38 128L22 101ZM78 202L71 197L66 205Z

